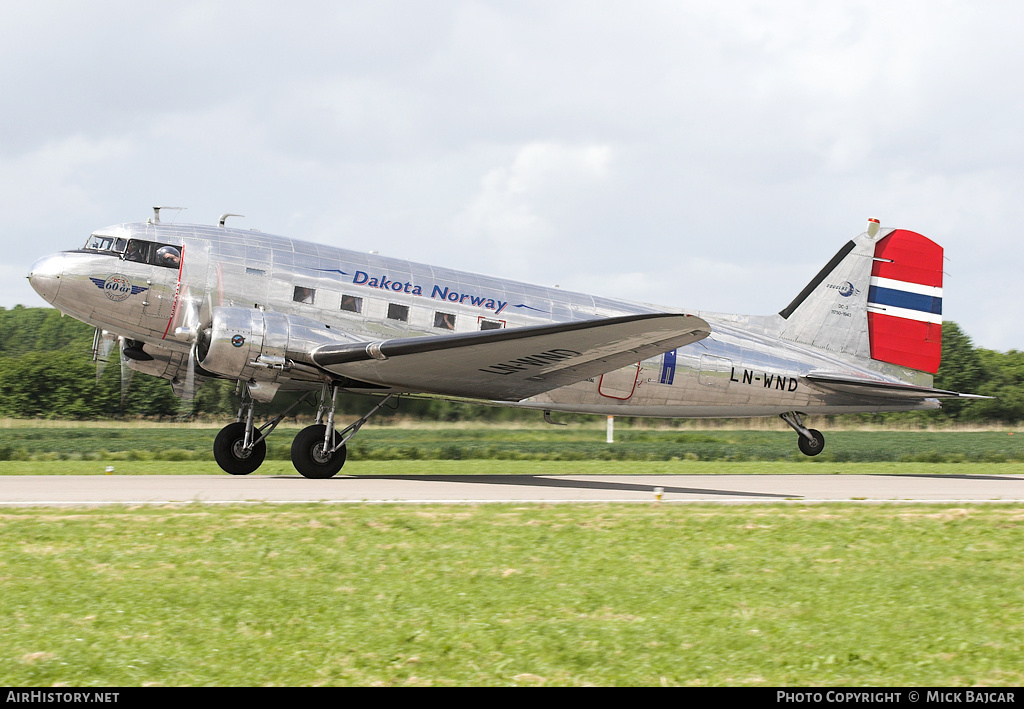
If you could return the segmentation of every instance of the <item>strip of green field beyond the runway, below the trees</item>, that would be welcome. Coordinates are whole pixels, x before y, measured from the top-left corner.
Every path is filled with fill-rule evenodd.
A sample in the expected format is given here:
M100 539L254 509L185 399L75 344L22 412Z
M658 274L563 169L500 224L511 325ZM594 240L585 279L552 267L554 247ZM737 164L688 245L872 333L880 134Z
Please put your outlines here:
M267 440L267 459L288 461L295 428ZM212 461L216 427L11 425L0 428L0 461ZM1024 433L986 431L826 431L824 452L807 458L790 430L602 429L435 426L365 428L349 459L516 461L1024 462Z

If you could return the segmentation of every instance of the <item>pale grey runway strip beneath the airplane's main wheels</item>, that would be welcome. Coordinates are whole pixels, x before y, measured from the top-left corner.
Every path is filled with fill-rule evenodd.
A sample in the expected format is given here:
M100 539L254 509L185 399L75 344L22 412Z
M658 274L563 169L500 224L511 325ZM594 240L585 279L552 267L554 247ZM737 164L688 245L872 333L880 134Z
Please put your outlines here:
M657 490L660 489L660 493ZM3 475L0 506L344 502L1024 502L1015 475Z

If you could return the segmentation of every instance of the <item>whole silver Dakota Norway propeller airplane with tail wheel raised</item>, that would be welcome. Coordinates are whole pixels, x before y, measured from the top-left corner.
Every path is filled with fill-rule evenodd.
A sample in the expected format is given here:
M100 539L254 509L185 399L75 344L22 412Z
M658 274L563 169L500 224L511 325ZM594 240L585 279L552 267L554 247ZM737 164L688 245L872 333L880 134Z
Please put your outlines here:
M167 208L165 208L167 209ZM255 402L319 392L292 444L306 477L330 477L346 444L390 398L436 394L550 413L667 418L780 416L800 450L824 436L811 414L935 409L976 399L932 387L942 334L942 248L877 220L781 311L717 315L573 293L310 244L255 231L146 222L93 233L37 261L32 287L95 326L94 356L120 343L133 371L190 400L234 379L242 406L214 442L220 466L256 470L266 436ZM340 429L338 391L380 393ZM299 400L301 401L301 400Z

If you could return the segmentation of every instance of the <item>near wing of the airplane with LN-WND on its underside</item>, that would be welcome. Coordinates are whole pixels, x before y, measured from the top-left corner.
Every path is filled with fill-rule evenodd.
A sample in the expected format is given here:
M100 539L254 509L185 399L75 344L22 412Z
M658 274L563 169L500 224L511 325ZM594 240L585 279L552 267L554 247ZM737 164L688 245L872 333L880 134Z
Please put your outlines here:
M703 339L695 316L647 314L452 335L327 344L329 372L408 391L519 401Z

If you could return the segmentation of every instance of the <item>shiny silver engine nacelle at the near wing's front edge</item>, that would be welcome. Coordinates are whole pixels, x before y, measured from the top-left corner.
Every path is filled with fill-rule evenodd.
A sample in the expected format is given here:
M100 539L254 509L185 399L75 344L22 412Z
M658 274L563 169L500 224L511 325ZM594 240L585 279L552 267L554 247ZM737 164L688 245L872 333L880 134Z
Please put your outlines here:
M292 379L321 378L309 353L323 344L356 341L299 316L267 312L252 307L215 307L209 346L200 362L207 372L261 383L276 381L288 371Z

